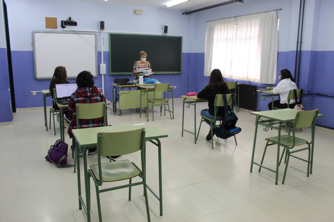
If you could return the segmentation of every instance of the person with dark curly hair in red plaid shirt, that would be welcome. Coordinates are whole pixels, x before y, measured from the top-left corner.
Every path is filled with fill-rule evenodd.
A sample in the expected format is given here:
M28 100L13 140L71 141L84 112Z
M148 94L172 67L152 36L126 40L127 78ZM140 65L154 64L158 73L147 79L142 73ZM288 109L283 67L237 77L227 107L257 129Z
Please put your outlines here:
M68 135L70 138L73 137L72 129L76 129L76 118L75 118L75 105L77 103L100 103L106 102L106 98L103 93L94 86L93 75L88 71L82 71L76 77L76 85L78 88L72 93L69 104L68 104L68 117L71 120L68 127ZM108 125L108 123L107 123ZM91 128L104 126L104 119L80 119L79 128ZM96 153L96 148L90 149L88 154Z

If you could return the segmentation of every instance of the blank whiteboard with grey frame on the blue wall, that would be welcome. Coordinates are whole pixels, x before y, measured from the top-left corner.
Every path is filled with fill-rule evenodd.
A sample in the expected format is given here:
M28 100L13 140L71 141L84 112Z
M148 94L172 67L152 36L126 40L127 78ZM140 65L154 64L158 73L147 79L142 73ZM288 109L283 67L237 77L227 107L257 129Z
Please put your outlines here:
M35 79L52 79L57 66L66 68L68 79L85 70L98 76L95 33L33 31L32 40Z

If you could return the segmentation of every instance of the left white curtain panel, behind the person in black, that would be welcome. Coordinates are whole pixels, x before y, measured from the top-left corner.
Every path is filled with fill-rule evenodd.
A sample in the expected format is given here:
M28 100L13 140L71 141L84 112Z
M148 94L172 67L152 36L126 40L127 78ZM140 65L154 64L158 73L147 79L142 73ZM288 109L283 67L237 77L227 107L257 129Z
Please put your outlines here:
M206 24L204 76L213 69L230 75L235 17Z

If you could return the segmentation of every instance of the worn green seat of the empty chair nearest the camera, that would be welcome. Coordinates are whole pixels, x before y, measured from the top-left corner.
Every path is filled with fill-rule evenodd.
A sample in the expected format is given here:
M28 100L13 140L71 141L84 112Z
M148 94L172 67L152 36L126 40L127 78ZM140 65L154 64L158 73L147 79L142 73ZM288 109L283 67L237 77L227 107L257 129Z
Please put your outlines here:
M99 179L99 164L90 165L95 177ZM101 164L103 182L130 179L138 176L140 171L128 159Z

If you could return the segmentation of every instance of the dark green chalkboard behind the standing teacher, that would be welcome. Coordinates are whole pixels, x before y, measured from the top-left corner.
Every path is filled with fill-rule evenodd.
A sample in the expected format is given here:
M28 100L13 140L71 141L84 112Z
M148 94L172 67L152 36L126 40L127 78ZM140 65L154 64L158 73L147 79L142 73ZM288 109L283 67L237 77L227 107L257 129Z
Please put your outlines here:
M154 73L182 72L182 37L109 33L111 75L132 74L140 51L147 53Z

